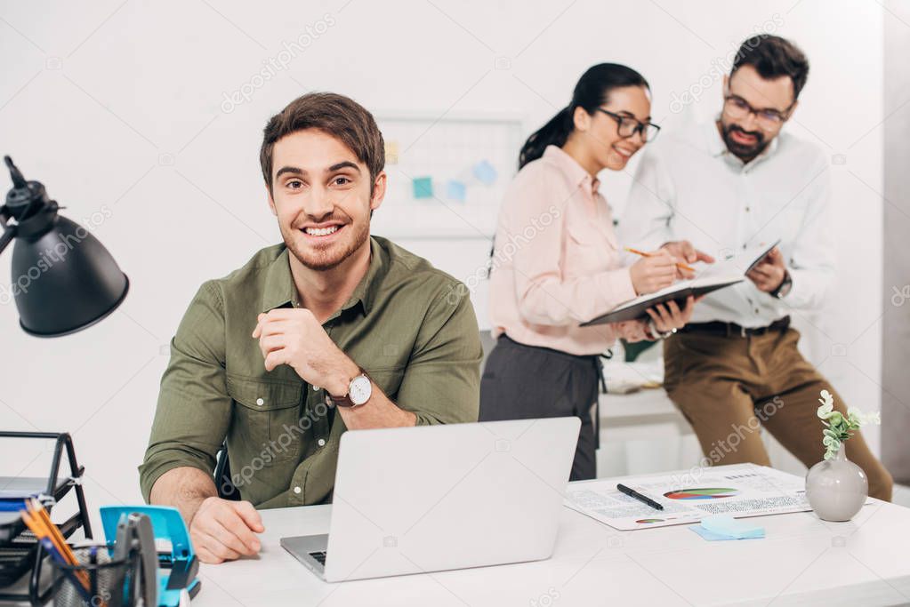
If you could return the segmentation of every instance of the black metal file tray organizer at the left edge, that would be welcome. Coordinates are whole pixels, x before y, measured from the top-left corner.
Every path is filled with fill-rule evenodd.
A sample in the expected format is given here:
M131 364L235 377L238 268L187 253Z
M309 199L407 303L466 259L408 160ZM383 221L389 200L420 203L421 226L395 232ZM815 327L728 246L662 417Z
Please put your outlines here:
M90 539L92 527L88 520L86 495L82 488L82 476L86 469L76 463L76 452L73 450L73 440L69 433L0 432L0 439L4 438L55 441L54 458L44 490L44 495L52 497L53 500L45 501L45 509L50 512L54 504L75 488L78 512L59 525L60 532L64 537L69 538L77 530L82 529L86 539ZM60 461L64 456L64 451L66 451L70 473L68 476L61 477ZM0 602L30 602L33 606L38 607L50 600L60 581L43 582L43 580L51 580L53 575L50 563L45 562L46 556L41 544L37 542L35 535L28 530L20 517L15 517L0 525ZM27 590L14 592L8 589L11 585L18 585L25 574L28 575ZM46 586L43 592L42 585Z

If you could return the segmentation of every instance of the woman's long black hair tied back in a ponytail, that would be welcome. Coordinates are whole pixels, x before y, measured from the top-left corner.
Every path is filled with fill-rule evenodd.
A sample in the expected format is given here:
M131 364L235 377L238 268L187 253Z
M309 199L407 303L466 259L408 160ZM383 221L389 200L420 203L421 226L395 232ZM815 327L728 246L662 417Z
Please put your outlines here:
M575 85L571 103L553 116L540 130L531 134L528 141L521 146L521 153L518 154L519 169L540 158L547 145L561 146L566 143L566 139L575 128L572 116L576 107L583 107L588 114L594 114L599 105L607 103L610 92L622 86L650 88L648 81L641 74L625 65L598 64L588 68Z

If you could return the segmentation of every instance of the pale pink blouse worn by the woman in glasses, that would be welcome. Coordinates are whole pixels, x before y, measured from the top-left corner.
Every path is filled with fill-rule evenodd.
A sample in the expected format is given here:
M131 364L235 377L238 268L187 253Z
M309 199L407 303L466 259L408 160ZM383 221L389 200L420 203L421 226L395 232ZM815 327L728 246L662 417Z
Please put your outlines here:
M571 354L597 354L644 323L579 323L636 296L599 182L561 148L515 176L502 201L490 272L493 336Z

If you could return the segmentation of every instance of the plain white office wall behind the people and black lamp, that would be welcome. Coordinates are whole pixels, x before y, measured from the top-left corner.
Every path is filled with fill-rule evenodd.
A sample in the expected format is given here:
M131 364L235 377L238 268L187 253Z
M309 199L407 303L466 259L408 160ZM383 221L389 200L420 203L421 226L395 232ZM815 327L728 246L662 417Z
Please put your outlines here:
M569 101L585 68L617 61L649 78L653 114L669 126L683 115L715 111L717 82L683 114L670 111L671 94L697 83L713 58L775 19L776 31L792 36L813 62L795 130L846 156L834 167L835 229L843 244L838 296L808 337L814 359L844 396L876 408L879 6L823 0L530 6L0 3L2 152L26 177L43 181L69 216L110 215L93 229L133 284L104 323L53 341L28 337L17 327L15 306L0 306L0 427L74 433L93 508L140 499L136 464L167 363L162 346L199 283L277 241L258 145L268 116L302 92L337 91L377 110L519 112L530 131ZM257 82L248 102L225 103L224 95L251 83L269 59L281 59L283 43L308 31L311 44L287 69ZM605 178L620 207L628 175ZM0 184L5 190L7 179ZM488 253L480 241L403 244L460 277ZM10 282L10 253L0 260L0 284ZM480 318L486 323L483 309ZM844 356L830 356L835 343L845 345ZM17 473L28 459L7 457L0 473Z

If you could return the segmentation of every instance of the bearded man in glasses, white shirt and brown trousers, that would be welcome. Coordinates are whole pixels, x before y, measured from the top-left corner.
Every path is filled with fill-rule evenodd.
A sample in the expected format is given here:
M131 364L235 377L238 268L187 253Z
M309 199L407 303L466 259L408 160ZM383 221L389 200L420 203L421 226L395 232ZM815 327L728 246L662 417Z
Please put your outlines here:
M834 278L827 160L814 144L781 133L808 72L784 38L743 42L723 78L721 114L648 146L620 221L622 242L663 246L689 262L781 240L748 281L707 295L692 323L664 343L664 387L710 463L770 465L763 426L812 466L824 455L819 393L833 393L846 413L789 326L789 313L824 303ZM891 476L862 434L844 444L870 495L890 501Z

